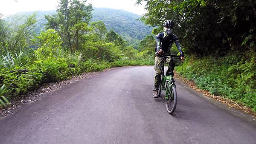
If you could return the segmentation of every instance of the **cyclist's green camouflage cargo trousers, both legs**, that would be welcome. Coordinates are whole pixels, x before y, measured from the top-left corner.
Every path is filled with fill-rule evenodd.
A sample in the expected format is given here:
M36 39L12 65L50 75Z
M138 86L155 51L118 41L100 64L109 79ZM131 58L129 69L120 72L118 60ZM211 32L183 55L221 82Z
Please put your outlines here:
M155 78L154 78L154 90L158 90L158 87L159 85L161 84L162 82L162 67L163 67L163 60L164 58L163 57L159 57L159 56L155 56L155 62L154 62L154 70L156 71L156 74L155 74ZM171 59L166 59L166 62L169 63ZM167 69L167 72L166 72L166 76L168 75L173 75L173 70L174 70L174 66L175 66L175 62L173 61L173 67L172 67L172 71L171 73L169 73L170 71L170 66L168 67Z

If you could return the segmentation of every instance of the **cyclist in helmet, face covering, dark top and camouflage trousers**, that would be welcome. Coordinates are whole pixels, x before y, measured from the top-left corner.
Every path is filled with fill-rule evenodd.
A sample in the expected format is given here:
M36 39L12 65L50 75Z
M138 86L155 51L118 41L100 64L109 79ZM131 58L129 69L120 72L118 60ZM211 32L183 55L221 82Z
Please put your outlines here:
M155 79L154 79L154 93L153 97L158 98L158 87L161 84L161 73L162 73L162 66L163 66L163 60L164 58L161 57L164 53L169 53L170 49L172 48L172 43L175 42L178 51L180 52L180 59L184 60L184 53L182 51L182 48L180 46L178 37L172 34L172 29L174 27L174 22L172 20L166 20L163 22L163 31L156 35L156 56L155 56L155 64L154 69L156 71ZM172 75L173 76L173 70L174 70L174 63L172 67L171 73L166 73L166 76ZM169 71L169 68L168 70Z

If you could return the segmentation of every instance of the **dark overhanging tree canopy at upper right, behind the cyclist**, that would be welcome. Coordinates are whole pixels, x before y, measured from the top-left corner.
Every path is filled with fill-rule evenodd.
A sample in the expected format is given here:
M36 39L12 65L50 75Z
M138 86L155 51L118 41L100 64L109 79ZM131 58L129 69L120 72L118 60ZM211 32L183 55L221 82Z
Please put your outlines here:
M197 56L229 51L256 52L256 3L243 0L137 0L148 10L141 20L162 27L174 20L174 33ZM154 31L155 32L155 31Z

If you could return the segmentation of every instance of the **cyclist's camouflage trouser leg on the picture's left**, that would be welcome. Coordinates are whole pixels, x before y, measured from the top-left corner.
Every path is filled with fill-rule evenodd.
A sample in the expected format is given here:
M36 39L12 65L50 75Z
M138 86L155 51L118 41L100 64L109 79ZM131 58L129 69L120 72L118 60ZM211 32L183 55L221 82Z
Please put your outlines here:
M154 70L156 71L154 79L154 89L158 90L159 85L162 81L162 67L163 67L163 57L155 56Z

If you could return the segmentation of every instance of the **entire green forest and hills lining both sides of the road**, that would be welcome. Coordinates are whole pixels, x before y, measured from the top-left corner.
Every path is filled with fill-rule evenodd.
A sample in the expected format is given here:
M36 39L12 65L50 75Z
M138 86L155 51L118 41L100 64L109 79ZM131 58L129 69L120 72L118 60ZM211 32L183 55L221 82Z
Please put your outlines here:
M198 88L256 111L256 1L136 4L145 4L147 13L140 20L149 26L128 18L116 23L122 12L93 12L79 0L60 0L56 12L44 16L47 23L40 34L35 32L36 13L12 20L0 17L0 106L45 82L111 67L154 65L154 35L163 31L164 20L173 20L173 33L186 56L177 73Z

